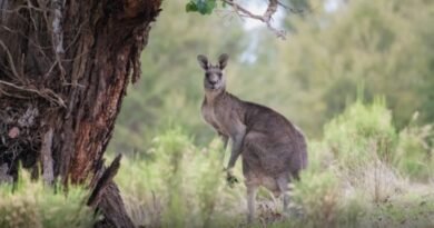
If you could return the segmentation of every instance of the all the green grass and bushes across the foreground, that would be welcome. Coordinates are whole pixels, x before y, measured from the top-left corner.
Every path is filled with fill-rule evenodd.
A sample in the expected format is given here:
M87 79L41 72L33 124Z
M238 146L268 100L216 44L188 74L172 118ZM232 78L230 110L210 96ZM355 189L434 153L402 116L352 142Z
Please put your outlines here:
M432 227L433 129L415 115L398 130L385 107L357 101L329 121L324 139L308 142L309 166L293 184L298 215L285 218L282 201L260 189L251 227ZM247 227L246 189L225 182L224 156L219 139L199 147L171 127L146 153L126 157L115 180L135 225ZM0 186L0 227L91 227L85 189L66 196L21 176L13 192Z

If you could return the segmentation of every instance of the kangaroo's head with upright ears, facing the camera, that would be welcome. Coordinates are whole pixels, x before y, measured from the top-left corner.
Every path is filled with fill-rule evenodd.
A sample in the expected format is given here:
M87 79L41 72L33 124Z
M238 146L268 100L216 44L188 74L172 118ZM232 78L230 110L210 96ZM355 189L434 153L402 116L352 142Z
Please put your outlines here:
M223 53L218 58L218 63L211 65L205 56L197 56L200 67L205 70L204 87L206 91L219 92L225 90L226 79L223 69L225 69L228 58L227 53Z

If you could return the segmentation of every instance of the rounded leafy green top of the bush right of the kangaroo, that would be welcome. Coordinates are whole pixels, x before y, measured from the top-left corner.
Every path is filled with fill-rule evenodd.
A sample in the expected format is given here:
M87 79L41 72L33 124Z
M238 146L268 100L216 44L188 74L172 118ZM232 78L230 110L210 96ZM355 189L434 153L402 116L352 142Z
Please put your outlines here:
M389 162L396 145L392 113L384 99L364 105L361 99L324 129L324 141L344 168L363 168L376 159Z

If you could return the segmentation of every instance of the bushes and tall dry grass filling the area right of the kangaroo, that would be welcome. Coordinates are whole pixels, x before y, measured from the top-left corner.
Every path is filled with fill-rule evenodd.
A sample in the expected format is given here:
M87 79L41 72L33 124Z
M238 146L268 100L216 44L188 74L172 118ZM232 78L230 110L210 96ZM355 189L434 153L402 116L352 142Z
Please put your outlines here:
M382 99L357 100L310 143L310 166L294 190L304 218L292 227L431 226L432 136L431 126L415 123L398 132Z

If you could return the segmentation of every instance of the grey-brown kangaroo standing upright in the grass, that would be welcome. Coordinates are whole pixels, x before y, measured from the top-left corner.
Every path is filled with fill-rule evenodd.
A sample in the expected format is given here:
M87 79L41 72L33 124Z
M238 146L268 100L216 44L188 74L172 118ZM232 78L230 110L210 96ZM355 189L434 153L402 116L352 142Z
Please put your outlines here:
M201 115L221 137L225 148L231 140L227 165L228 177L238 157L243 159L243 175L247 188L248 222L255 215L255 198L259 186L275 197L283 195L284 211L289 204L289 182L299 179L307 166L306 140L300 130L284 116L270 108L238 99L226 91L224 69L228 54L218 58L217 65L197 57L205 70L205 98Z

